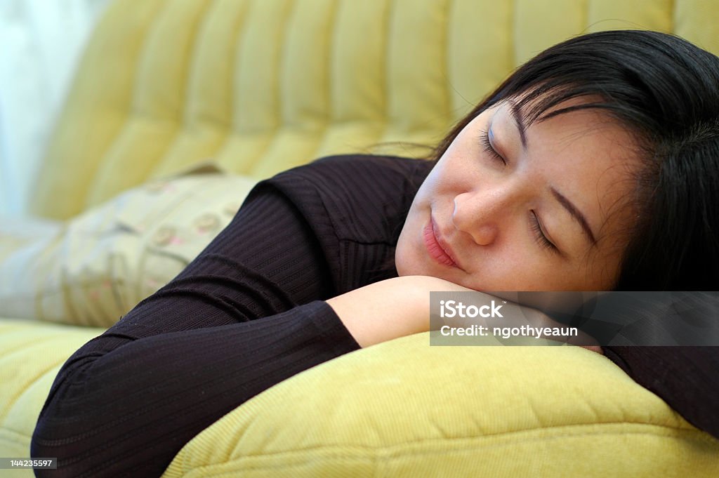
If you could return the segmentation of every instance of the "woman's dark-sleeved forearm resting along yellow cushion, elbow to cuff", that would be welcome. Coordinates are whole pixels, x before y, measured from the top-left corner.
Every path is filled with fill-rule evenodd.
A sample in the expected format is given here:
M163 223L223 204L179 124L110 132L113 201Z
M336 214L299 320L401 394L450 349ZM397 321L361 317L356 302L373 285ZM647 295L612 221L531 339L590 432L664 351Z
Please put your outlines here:
M63 369L40 414L31 454L58 457L58 469L37 477L160 477L226 413L359 348L322 301L246 323L96 343L94 357Z

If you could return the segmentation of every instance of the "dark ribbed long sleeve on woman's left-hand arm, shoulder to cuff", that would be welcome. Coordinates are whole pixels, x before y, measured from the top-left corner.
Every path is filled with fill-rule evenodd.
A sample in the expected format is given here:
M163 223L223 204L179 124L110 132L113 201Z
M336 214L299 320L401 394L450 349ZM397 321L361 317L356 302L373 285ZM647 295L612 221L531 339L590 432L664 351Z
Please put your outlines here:
M303 215L258 186L186 270L68 359L32 438L58 469L37 476L159 477L222 415L359 348L332 294Z

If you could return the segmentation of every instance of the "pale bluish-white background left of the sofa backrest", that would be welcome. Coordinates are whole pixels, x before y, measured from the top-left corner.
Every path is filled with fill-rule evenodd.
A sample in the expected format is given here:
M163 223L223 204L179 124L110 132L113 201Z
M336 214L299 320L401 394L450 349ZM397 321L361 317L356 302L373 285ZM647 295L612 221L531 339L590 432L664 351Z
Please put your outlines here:
M0 0L0 216L26 213L75 65L108 1Z

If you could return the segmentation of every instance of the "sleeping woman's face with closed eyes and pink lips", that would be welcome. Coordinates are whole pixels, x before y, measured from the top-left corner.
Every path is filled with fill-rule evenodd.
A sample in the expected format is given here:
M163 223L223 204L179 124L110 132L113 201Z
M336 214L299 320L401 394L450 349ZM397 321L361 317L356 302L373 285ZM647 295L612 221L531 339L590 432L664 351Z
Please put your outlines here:
M597 110L525 127L514 109L482 112L437 162L400 234L399 274L487 292L610 290L634 215L631 136Z

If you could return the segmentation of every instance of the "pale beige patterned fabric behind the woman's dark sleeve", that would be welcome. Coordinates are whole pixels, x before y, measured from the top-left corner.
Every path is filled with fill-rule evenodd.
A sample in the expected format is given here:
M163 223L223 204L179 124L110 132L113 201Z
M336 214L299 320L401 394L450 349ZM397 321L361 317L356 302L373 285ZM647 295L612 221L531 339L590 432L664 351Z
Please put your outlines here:
M6 229L0 317L111 326L178 275L229 224L255 183L204 163L65 223Z

